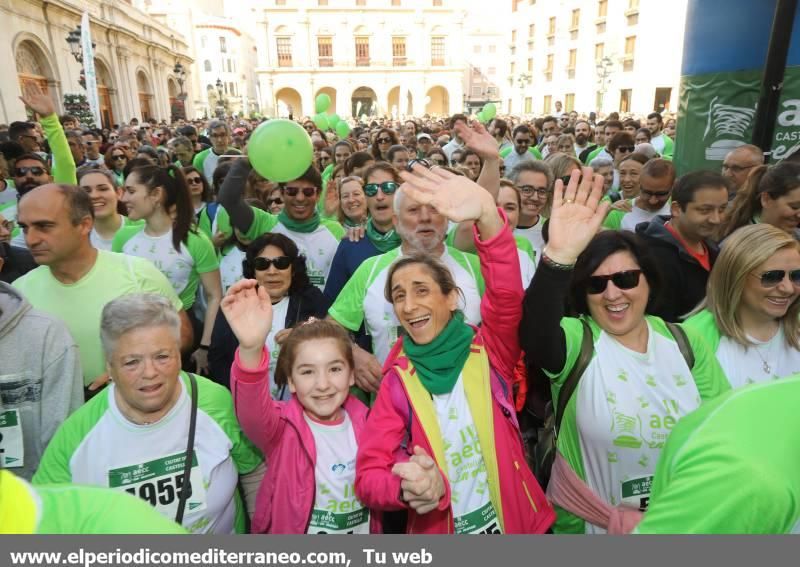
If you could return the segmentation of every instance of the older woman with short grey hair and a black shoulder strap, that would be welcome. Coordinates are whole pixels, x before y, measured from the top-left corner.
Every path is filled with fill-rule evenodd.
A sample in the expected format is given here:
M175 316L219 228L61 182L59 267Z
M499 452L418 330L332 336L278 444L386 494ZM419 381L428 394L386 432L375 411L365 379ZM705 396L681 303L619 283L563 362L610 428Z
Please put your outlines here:
M263 458L230 392L181 371L178 313L157 295L119 297L103 309L100 340L111 386L59 427L34 484L112 488L191 532L243 533L238 484L255 502Z

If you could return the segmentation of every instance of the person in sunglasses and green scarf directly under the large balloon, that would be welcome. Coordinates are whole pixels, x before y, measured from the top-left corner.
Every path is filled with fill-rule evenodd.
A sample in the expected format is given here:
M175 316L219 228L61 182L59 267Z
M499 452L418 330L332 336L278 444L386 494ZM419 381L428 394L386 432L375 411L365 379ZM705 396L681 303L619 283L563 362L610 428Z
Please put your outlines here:
M306 257L311 283L323 291L344 229L335 220L323 219L317 210L322 189L319 172L312 165L303 175L282 185L285 206L277 215L251 207L244 201L248 175L250 163L245 158L237 159L222 183L219 204L230 217L231 226L250 241L265 232L291 238Z

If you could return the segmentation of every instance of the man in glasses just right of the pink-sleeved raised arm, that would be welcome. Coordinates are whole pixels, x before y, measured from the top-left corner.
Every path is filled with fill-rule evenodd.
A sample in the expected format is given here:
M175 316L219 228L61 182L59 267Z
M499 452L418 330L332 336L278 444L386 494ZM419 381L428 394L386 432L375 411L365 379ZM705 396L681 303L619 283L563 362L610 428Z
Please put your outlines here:
M542 226L546 220L544 215L553 202L553 172L544 162L526 161L512 169L508 179L519 189L522 197L514 236L527 239L533 246L536 257L541 258L544 248Z

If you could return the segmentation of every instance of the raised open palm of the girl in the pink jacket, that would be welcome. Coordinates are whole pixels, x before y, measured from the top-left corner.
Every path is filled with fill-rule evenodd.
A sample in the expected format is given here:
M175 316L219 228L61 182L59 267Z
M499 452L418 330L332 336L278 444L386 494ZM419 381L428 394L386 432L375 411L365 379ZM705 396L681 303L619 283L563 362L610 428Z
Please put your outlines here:
M220 304L242 351L261 353L272 328L272 303L267 290L256 280L233 284Z

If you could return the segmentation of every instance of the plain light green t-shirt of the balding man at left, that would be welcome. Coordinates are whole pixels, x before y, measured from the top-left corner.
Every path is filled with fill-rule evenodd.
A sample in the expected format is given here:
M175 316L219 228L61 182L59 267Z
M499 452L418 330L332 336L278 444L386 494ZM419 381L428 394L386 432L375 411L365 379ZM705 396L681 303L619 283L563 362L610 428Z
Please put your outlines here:
M39 266L14 282L14 287L35 307L64 321L78 344L84 384L105 374L100 345L100 315L106 303L131 293L157 293L175 309L183 305L164 274L152 262L98 250L97 261L74 284L55 279L47 266Z

